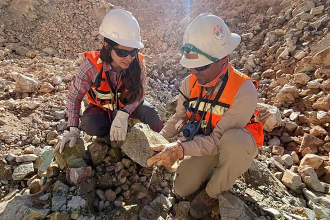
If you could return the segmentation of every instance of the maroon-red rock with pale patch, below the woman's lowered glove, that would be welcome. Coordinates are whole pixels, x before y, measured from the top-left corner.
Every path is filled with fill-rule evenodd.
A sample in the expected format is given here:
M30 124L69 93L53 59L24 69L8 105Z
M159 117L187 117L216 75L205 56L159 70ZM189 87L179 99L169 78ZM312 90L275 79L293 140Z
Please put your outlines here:
M91 176L91 167L67 168L66 181L70 185L78 185L86 181Z

